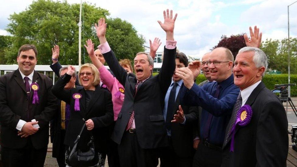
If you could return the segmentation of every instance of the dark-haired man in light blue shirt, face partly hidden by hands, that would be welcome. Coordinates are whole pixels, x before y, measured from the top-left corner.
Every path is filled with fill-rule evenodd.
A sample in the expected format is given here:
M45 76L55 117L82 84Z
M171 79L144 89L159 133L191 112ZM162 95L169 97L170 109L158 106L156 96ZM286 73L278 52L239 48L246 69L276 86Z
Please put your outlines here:
M176 54L175 69L187 67L188 59L182 52ZM180 106L180 87L183 80L173 74L171 85L164 100L164 119L169 146L162 149L161 167L192 166L195 150L193 145L199 142L195 138L198 131L198 107ZM179 110L179 111L178 111ZM174 116L174 120L173 120ZM198 135L197 135L198 136Z

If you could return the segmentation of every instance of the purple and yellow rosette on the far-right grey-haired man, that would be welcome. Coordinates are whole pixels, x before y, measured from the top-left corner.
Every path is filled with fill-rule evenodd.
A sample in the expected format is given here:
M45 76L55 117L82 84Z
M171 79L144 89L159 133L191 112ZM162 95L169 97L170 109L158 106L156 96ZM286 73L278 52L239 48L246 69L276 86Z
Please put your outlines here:
M241 127L246 126L247 124L250 123L250 120L252 118L253 111L252 108L249 105L243 105L236 114L236 121L231 129L232 133L232 139L231 139L231 146L230 146L230 151L234 151L234 135L235 135L235 127L238 124Z

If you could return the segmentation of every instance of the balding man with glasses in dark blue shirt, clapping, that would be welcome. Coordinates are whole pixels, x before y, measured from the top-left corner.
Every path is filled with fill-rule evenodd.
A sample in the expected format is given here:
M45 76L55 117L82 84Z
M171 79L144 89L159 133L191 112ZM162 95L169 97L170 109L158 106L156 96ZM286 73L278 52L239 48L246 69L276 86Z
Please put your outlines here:
M202 142L194 155L193 166L220 166L222 163L225 129L239 94L239 88L233 81L233 60L227 48L219 47L211 51L208 61L202 65L208 65L211 79L216 82L209 82L202 87L193 81L197 71L200 71L200 61L193 61L188 68L176 70L176 75L184 81L184 86L180 88L180 103L203 108L200 127Z

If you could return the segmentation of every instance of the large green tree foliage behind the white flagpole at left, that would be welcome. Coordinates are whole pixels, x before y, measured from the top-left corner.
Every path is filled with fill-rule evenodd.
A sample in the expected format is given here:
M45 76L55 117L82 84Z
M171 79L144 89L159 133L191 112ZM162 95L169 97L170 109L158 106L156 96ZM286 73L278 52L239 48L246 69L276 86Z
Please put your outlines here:
M51 64L51 48L58 44L60 63L77 65L79 8L79 4L70 5L67 1L37 0L25 11L10 15L6 30L12 34L12 44L5 50L6 64L16 63L19 47L30 43L37 47L38 64ZM94 23L110 13L89 3L83 3L82 10L82 63L87 63L91 61L83 44L87 39L92 39L95 47L99 45ZM118 18L107 19L107 23L107 40L119 58L131 59L144 50L144 38L130 23Z

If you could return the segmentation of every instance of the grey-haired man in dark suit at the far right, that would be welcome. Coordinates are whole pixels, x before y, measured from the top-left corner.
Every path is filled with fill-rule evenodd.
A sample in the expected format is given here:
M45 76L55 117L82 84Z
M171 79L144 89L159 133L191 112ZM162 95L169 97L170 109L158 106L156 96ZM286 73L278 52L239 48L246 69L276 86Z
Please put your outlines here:
M262 50L256 47L239 50L233 71L234 84L241 92L226 128L224 167L286 166L288 120L281 101L261 82L266 69L267 57ZM251 119L245 126L236 126L236 115L243 105L251 107ZM235 130L232 131L232 127Z

